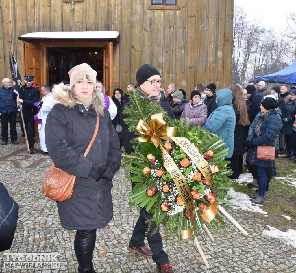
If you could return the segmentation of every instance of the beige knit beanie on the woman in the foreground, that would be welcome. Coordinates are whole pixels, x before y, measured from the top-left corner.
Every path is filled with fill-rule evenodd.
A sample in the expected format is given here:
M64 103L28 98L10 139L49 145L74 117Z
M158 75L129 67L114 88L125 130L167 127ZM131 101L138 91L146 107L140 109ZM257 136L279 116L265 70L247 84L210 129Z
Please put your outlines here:
M89 64L78 64L74 66L69 72L70 89L80 79L90 79L94 86L96 86L96 71L91 68Z

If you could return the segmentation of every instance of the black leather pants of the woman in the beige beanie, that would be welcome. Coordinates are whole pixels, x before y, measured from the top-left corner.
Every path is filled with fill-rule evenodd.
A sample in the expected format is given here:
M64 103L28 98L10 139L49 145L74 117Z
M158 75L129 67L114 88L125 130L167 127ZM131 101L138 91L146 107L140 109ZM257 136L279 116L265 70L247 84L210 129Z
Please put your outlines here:
M91 270L92 257L96 244L96 230L77 230L74 240L74 251L82 270Z

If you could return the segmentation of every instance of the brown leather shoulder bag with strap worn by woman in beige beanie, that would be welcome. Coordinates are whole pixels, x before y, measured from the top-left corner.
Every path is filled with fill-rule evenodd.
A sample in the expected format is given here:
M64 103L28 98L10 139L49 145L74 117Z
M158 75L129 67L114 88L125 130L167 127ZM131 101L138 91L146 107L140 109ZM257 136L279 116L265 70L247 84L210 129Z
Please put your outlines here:
M88 154L92 144L94 143L98 129L99 116L96 118L96 130L84 153L84 156ZM66 173L65 171L55 167L54 163L52 163L44 178L42 186L43 195L54 201L63 202L71 197L75 180L76 176Z

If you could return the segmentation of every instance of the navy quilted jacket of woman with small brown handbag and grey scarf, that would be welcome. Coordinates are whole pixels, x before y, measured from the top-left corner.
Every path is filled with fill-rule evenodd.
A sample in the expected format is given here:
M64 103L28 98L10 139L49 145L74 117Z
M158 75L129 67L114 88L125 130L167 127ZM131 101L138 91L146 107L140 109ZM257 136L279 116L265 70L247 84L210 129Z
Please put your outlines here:
M259 136L255 137L255 130L250 133L247 138L247 141L251 141L252 145L267 145L274 146L276 133L279 132L281 128L280 117L277 114L276 110L272 111L269 116L267 116L260 126ZM250 153L250 164L265 168L272 167L272 161L258 160L257 158L257 147L252 149Z

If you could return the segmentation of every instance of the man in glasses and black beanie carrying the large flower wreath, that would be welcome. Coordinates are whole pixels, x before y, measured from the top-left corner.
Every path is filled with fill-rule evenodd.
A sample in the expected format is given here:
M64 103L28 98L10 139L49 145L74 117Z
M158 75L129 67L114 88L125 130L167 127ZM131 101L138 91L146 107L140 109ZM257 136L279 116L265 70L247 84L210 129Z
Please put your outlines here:
M150 103L160 102L161 108L168 112L169 117L174 118L169 103L161 98L160 86L163 84L163 80L160 77L159 71L150 64L144 64L138 69L136 79L138 82L136 92L139 92L141 98L144 99L148 97ZM130 154L133 151L131 140L134 139L136 135L134 132L128 131L128 126L124 123L124 119L128 116L123 114L123 110L128 105L131 105L130 101L121 108L120 125L122 126L123 146L126 153ZM133 234L128 245L128 251L140 254L143 257L152 257L153 261L156 263L156 271L158 273L173 273L173 269L168 261L168 254L163 250L163 241L159 230L152 236L154 229L156 228L155 223L151 226L147 224L147 220L150 220L152 217L153 213L148 213L145 208L140 210L140 216L133 229ZM153 249L153 253L144 243L146 237L145 233L148 228L150 231L147 235L147 241L149 247Z

